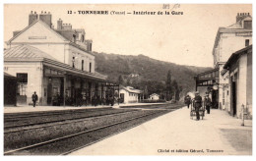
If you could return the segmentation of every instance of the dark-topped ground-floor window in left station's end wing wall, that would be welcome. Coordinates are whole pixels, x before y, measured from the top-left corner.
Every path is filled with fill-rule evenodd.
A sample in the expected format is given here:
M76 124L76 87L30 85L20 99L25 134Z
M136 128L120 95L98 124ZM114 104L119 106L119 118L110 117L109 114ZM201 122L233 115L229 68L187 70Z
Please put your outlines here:
M17 74L17 94L27 95L28 74Z

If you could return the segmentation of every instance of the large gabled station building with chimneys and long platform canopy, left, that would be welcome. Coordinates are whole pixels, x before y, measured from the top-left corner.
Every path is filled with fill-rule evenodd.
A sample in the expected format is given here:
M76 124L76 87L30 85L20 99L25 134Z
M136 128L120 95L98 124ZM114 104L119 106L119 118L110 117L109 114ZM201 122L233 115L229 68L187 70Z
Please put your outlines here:
M105 97L107 77L95 71L92 43L83 28L60 19L54 28L50 13L32 12L29 26L14 31L4 51L4 72L17 78L17 105L32 103L34 91L39 105L53 105L56 95L63 105Z

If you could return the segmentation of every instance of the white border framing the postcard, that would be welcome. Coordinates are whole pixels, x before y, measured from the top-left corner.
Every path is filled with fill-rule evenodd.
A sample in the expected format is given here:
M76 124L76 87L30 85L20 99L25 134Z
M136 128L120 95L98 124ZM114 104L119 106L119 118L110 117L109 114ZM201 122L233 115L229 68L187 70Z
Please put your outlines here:
M3 40L3 24L4 24L4 10L3 10L3 6L4 4L57 4L57 3L61 3L61 4L79 4L79 3L86 3L86 4L113 4L113 3L118 3L118 4L149 4L149 3L186 3L186 4L253 4L253 11L255 9L255 5L254 5L253 0L211 0L211 1L206 1L206 0L193 0L193 1L188 1L188 0L179 0L179 1L175 1L175 0L147 0L147 1L143 1L143 0L107 0L107 1L103 1L103 0L43 0L43 1L34 1L34 0L2 0L1 6L0 6L0 11L1 11L1 33L2 33L2 37L1 37L1 53L3 55L3 47L4 47L4 40ZM253 17L255 16L254 12L253 12ZM255 22L253 21L253 28L255 27ZM253 41L255 42L255 36L253 36ZM255 62L255 56L253 56L253 62ZM0 75L1 75L1 84L0 84L0 90L2 92L2 96L0 98L0 103L3 106L3 56L0 57ZM255 81L255 66L253 66L253 81ZM256 88L253 87L253 100L255 99L255 90ZM253 102L254 105L254 102ZM255 110L253 110L253 115L255 116ZM253 157L245 157L245 156L202 156L202 157L198 157L198 156L129 156L129 157L124 157L124 156L78 156L76 158L71 158L70 156L68 157L61 157L61 158L55 158L52 156L47 156L48 158L44 158L44 157L26 157L26 156L22 156L22 157L9 157L9 156L3 156L3 107L1 108L1 147L0 147L0 151L2 152L2 158L1 159L5 159L5 160L32 160L34 161L34 159L39 159L39 160L43 160L43 159L61 159L61 160L73 160L73 159L78 159L78 160L118 160L118 161L126 161L126 160L149 160L149 161L155 161L155 160L176 160L176 159L181 159L181 160L203 160L203 161L209 161L209 160L243 160L246 159L247 160L255 160L255 155L256 155L256 150L254 148L255 145L255 134L253 133ZM255 122L255 121L253 121ZM254 129L254 128L253 128ZM241 138L242 139L242 138Z

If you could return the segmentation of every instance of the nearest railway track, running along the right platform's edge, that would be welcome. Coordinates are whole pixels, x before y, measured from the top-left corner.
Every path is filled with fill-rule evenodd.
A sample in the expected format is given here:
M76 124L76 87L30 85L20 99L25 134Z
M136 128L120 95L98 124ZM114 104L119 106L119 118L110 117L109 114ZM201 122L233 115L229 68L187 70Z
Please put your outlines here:
M131 129L168 112L170 111L147 111L143 115L100 126L91 130L86 130L76 134L68 134L17 149L8 150L4 152L4 155L66 155L74 150L91 145L110 135Z

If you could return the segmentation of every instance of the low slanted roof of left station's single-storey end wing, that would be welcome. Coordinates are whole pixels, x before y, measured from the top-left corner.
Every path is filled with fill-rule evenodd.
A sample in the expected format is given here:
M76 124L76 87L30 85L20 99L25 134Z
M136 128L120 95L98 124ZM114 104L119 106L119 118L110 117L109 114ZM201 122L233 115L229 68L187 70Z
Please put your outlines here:
M4 59L16 58L16 59L32 59L32 58L47 58L57 61L55 58L46 54L45 52L32 47L30 45L19 45L11 47L4 51Z

